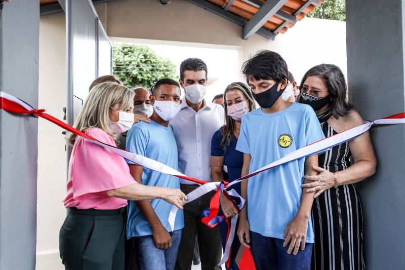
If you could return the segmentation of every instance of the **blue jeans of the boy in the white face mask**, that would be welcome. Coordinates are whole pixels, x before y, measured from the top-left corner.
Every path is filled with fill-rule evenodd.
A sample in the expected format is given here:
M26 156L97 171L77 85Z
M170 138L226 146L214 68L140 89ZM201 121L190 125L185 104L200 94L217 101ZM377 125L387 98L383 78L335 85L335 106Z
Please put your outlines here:
M138 256L138 266L141 270L174 269L179 251L181 229L169 234L172 236L172 246L167 249L156 248L153 235L133 238Z

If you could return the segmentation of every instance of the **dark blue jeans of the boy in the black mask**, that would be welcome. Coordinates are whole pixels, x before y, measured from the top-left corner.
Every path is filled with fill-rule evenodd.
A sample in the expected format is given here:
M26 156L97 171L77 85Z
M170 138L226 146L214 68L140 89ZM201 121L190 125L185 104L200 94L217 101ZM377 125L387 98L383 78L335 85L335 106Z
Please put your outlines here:
M297 255L288 254L283 247L284 239L265 237L250 231L250 251L255 261L256 269L286 269L306 270L311 268L312 246L306 243L304 250L298 250Z

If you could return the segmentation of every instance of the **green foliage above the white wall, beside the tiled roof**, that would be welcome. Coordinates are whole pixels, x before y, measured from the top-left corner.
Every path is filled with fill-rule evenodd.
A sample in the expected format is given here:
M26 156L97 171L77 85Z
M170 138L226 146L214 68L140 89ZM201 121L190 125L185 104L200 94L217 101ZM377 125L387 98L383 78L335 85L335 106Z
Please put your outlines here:
M315 8L308 14L310 18L346 21L345 0L325 0L322 5Z

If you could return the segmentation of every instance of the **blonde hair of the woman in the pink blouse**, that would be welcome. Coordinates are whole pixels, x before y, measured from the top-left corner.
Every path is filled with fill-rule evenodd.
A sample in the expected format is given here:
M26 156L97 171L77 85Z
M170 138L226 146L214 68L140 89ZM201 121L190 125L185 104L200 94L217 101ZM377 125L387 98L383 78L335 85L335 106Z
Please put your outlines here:
M100 128L115 140L116 134L111 130L109 108L120 104L117 110L127 110L134 103L134 96L133 91L117 83L106 82L95 85L89 92L73 127L82 132L90 128ZM69 132L66 140L73 145L76 137L76 134Z

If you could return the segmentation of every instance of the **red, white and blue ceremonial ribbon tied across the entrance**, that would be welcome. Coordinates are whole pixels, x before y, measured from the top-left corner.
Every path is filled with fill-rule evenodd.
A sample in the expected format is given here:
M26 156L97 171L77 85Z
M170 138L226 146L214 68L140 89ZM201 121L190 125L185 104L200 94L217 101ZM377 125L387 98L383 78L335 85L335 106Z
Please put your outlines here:
M32 106L30 106L26 102L14 97L10 94L2 92L2 91L0 91L0 109L4 109L9 112L20 113L20 114L31 114L32 113L35 117L42 117L44 119L47 119L48 121L62 127L63 129L65 129L69 132L72 132L78 136L82 136L82 137L86 138L87 140L90 140L98 145L101 145L101 146L113 151L117 155L119 155L123 158L126 158L142 167L145 167L145 168L148 168L148 169L160 172L160 173L170 174L170 175L173 175L173 176L185 179L185 180L190 180L190 181L200 184L201 185L200 187L191 191L187 195L188 201L186 201L185 203L192 202L193 200L197 199L198 197L201 197L212 190L218 189L221 184L220 182L206 182L203 180L199 180L196 178L186 176L186 175L178 172L177 170L175 170L165 164L162 164L160 162L151 160L149 158L146 158L146 157L143 157L140 155L136 155L135 153L132 153L132 152L117 148L113 145L109 145L109 144L103 143L101 141L98 141L97 139L87 135L86 133L78 131L78 130L74 129L73 127L67 125L66 123L52 117L52 115L44 113L44 111L45 111L44 109L39 109L39 110L34 109ZM291 161L294 161L297 159L315 155L316 153L325 151L335 145L339 145L346 141L352 140L355 137L368 131L373 125L395 125L395 124L405 124L405 112L395 114L390 117L386 117L384 119L375 120L374 122L366 122L365 124L360 125L358 127L343 131L343 132L333 135L331 137L328 137L328 138L319 140L317 142L314 142L312 144L309 144L307 146L304 146L300 149L297 149L297 150L289 153L285 157L282 157L281 159L274 161L253 173L250 173L247 176L236 179L236 180L232 181L231 183L226 183L225 188L229 188L230 186L232 186L236 183L244 181L254 175L257 175L261 172L270 170L274 167L280 166L282 164L285 164L285 163L288 163L288 162L291 162ZM219 193L219 192L217 192L217 193ZM234 192L234 190L228 191L228 194L232 195L232 196L240 197L239 195L236 194L236 192ZM220 196L220 195L216 194L216 196ZM238 206L239 209L241 209L245 203L245 200L243 200L243 198L240 197L240 199L241 199L241 203ZM173 206L171 209L170 215L169 215L169 223L172 227L172 230L174 228L174 221L175 221L177 210L178 210L178 208ZM218 211L218 209L217 209L217 211ZM224 262L226 262L229 259L230 246L232 244L233 237L234 237L236 220L237 220L237 215L235 215L231 218L231 229L230 229L230 233L229 233L229 236L227 239L224 256L221 259L220 264L223 264ZM206 224L209 223L209 220L206 221L205 223Z

